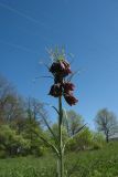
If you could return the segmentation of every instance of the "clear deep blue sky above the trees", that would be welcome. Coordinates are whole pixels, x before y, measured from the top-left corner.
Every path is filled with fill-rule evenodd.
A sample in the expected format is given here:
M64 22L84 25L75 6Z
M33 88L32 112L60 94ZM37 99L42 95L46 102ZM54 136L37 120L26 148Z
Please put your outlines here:
M97 111L118 115L118 0L0 0L0 73L18 92L56 105L47 96L52 81L40 61L46 48L64 45L74 54L74 108L92 128ZM51 114L52 119L55 115Z

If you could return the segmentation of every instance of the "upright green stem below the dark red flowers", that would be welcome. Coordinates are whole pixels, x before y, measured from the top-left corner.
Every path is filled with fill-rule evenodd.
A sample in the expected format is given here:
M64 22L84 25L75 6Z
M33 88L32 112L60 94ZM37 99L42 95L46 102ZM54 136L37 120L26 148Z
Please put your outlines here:
M60 177L64 177L64 164L63 164L63 142L62 142L62 121L63 121L63 110L62 110L62 96L58 97L58 135L60 135Z

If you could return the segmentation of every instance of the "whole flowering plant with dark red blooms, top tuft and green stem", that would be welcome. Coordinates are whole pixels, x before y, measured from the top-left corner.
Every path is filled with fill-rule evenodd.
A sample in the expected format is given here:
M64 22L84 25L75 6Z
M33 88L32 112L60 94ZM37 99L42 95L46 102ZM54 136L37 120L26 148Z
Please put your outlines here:
M51 56L53 58L53 63L49 69L49 71L52 73L54 83L50 88L50 95L58 98L58 110L56 110L54 106L53 108L58 114L58 136L56 137L51 127L49 126L47 122L45 121L47 128L50 129L51 134L53 135L56 146L50 145L53 148L53 150L57 155L57 174L58 177L64 177L64 149L65 145L63 143L63 108L62 108L62 97L65 98L66 103L72 106L75 105L78 100L74 97L73 91L75 85L66 80L66 76L69 74L73 74L71 71L71 64L65 60L65 53L64 51L51 51Z

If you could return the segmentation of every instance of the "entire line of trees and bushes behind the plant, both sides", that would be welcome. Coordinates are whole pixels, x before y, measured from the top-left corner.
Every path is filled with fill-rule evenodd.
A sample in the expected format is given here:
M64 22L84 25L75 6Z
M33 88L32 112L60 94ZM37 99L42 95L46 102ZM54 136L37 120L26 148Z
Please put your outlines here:
M107 110L106 112L104 110L103 114L101 111L97 114L96 123L101 132L108 132L105 134L108 140L111 128L108 129L110 126L109 121L105 119L105 113L108 113ZM101 116L105 116L106 122ZM112 114L110 119L111 117ZM115 121L115 117L112 119ZM112 123L116 125L114 121L111 127L114 127ZM58 136L58 129L57 124L49 122L42 102L33 97L20 96L12 84L0 76L0 157L42 156L51 152L44 139L56 146L54 136ZM92 132L85 125L84 118L74 111L63 112L63 140L67 142L66 152L97 149L105 144L104 135Z

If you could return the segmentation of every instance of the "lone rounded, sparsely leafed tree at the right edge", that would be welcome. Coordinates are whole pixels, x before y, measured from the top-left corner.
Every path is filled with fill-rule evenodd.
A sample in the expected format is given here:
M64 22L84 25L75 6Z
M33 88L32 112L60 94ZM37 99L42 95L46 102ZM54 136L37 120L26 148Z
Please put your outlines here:
M117 131L118 122L116 115L107 108L103 108L97 113L95 123L97 125L97 129L105 134L106 142L108 143L109 137Z

